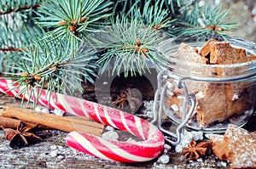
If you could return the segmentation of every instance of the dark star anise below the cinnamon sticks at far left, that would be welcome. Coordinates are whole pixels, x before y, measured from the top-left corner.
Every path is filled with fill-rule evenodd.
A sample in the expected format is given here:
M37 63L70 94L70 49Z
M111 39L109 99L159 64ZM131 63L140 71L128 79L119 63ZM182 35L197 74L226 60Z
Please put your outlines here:
M13 149L25 147L36 143L42 138L34 134L37 131L38 125L27 125L20 121L20 125L16 130L12 128L3 128L5 138L10 141L9 146Z

